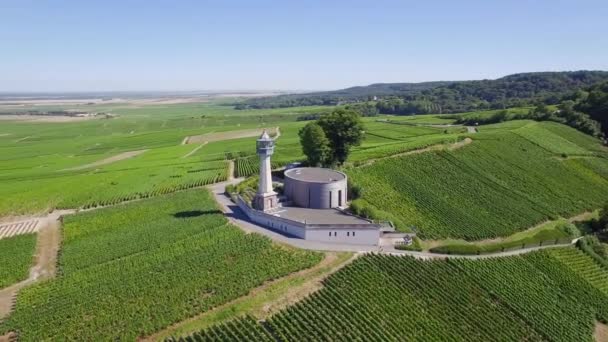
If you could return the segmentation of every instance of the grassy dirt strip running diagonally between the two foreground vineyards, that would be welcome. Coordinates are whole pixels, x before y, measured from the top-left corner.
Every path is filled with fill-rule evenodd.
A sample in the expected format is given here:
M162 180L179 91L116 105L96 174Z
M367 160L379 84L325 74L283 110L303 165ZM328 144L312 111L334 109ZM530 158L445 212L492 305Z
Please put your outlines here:
M189 334L244 314L264 319L319 290L323 279L348 265L357 256L358 254L328 252L320 263L311 268L266 282L246 296L173 324L154 335L140 338L139 341L159 341L172 335Z

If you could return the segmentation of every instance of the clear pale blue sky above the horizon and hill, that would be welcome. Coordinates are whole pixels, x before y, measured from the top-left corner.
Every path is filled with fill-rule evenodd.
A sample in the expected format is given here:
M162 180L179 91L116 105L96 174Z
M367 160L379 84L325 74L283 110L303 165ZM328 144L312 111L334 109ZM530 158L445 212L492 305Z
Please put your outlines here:
M608 1L0 0L0 91L334 89L608 70Z

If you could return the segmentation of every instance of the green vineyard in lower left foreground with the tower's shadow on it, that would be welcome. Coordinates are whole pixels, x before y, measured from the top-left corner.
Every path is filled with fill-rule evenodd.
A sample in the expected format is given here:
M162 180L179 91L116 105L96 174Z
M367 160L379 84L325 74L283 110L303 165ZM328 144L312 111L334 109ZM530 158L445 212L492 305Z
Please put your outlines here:
M321 259L243 234L203 190L67 216L64 223L58 278L23 289L0 335L134 340Z

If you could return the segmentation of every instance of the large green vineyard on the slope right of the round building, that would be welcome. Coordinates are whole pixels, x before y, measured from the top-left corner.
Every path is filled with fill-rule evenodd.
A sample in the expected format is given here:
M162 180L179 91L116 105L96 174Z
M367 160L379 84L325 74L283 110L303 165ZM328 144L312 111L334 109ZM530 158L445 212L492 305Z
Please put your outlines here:
M415 227L423 238L479 240L608 199L604 159L564 161L556 153L508 130L491 130L458 150L381 160L347 173L378 218L396 217L400 229Z

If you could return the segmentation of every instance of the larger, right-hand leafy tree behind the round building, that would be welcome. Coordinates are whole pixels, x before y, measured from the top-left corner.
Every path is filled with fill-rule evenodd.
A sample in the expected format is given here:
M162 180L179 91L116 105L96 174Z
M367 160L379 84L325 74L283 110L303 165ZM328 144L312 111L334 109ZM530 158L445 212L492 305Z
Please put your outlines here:
M363 140L363 123L355 111L336 109L322 116L318 124L329 139L332 164L343 164L351 147L359 146Z

